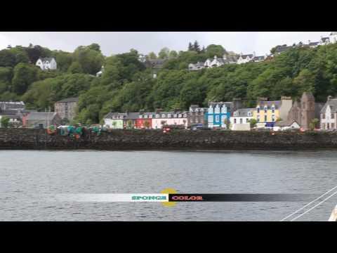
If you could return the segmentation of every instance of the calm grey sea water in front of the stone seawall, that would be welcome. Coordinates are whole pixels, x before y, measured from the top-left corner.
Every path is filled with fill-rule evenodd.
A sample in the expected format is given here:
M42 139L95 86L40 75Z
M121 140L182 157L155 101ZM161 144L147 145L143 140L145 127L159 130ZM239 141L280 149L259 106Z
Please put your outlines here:
M313 193L336 151L0 151L0 221L279 221L306 202L51 202L67 193ZM327 221L337 195L300 221Z

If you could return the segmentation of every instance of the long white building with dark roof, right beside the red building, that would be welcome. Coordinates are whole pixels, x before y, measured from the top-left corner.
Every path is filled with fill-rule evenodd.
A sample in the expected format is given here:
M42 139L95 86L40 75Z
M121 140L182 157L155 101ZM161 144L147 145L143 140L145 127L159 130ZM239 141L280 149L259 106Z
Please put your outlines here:
M187 128L187 112L161 112L157 110L154 118L152 118L152 129L161 129L166 125L178 125Z

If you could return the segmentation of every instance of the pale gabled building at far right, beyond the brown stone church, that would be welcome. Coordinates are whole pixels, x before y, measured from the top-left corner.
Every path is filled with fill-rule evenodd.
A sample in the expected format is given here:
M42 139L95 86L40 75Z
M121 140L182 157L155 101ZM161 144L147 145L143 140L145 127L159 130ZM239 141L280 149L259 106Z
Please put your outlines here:
M320 119L321 129L337 129L337 98L328 97L321 110Z

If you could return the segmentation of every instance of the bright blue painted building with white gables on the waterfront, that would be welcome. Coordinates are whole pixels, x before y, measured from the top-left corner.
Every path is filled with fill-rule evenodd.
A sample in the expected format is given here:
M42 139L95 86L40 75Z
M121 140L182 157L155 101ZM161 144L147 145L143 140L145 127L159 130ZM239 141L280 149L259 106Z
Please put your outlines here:
M209 128L227 128L226 121L230 121L234 103L232 102L210 102L207 112L207 122ZM237 108L236 108L237 109Z

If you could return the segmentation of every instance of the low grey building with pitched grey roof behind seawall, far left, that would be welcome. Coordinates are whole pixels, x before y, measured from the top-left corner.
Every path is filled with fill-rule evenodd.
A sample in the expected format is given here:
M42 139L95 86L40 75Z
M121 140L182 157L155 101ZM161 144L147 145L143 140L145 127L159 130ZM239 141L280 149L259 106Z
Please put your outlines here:
M48 126L59 126L62 119L57 112L29 112L22 119L23 126L29 128L47 128Z

